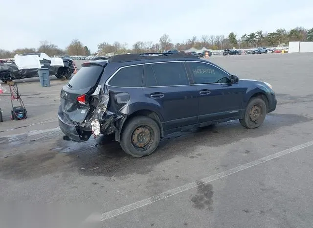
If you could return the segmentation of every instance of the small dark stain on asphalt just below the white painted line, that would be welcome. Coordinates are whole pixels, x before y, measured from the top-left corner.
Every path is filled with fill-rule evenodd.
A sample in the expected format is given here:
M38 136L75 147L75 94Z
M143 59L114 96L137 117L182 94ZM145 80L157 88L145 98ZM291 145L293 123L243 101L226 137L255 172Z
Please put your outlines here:
M197 184L197 194L190 199L193 203L192 206L199 210L207 209L213 211L213 185L210 183L204 184L201 181L198 181Z

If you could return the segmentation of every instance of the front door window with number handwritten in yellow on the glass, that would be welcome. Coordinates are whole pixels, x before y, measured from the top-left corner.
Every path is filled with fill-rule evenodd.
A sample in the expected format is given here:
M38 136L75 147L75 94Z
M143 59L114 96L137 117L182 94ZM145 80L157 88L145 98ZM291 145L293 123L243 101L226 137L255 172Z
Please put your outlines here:
M223 70L206 63L188 62L195 84L230 83L230 77Z

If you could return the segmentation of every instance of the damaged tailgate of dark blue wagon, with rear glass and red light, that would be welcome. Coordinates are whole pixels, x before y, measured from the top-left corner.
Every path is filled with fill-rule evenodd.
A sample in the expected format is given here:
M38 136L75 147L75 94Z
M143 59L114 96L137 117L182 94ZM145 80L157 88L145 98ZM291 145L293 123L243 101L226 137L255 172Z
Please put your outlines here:
M85 63L67 85L63 86L61 108L70 120L82 123L92 111L90 94L97 86L103 69L101 65Z

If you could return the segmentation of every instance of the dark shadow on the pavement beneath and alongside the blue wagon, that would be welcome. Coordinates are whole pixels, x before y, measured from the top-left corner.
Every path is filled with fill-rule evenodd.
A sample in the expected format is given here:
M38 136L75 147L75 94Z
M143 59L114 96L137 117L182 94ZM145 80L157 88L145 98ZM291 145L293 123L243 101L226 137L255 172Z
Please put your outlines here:
M124 153L119 143L113 141L112 137L98 138L96 144L89 146L88 151L84 145L77 149L76 144L76 149L64 150L63 153L67 153L75 160L75 166L83 175L123 177L132 173L147 174L156 164L174 157L195 158L190 154L193 154L198 146L210 151L210 147L229 144L238 141L239 138L261 137L273 133L280 127L307 121L312 119L294 114L268 114L264 125L258 129L245 129L239 121L230 121L191 132L176 133L162 139L153 154L139 159Z

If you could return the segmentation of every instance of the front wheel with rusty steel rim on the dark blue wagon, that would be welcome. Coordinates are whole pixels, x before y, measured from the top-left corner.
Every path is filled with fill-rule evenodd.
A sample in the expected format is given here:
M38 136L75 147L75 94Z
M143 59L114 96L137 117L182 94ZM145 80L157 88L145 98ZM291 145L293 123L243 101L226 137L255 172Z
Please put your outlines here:
M253 110L256 111L256 113L260 112L260 114L257 114L258 117L253 116ZM258 128L263 124L266 114L267 107L265 101L262 98L253 97L246 107L245 117L239 121L245 128Z

